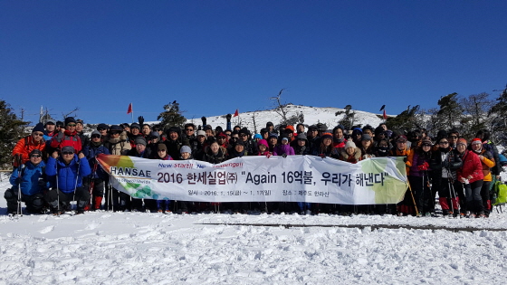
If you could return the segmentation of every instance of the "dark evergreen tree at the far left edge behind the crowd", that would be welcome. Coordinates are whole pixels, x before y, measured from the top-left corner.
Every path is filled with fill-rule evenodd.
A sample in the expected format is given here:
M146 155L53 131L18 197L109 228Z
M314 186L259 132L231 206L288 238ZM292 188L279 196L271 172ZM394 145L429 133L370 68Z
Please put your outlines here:
M24 127L27 125L13 113L5 100L0 100L0 168L12 167L13 148L20 138L23 138Z

